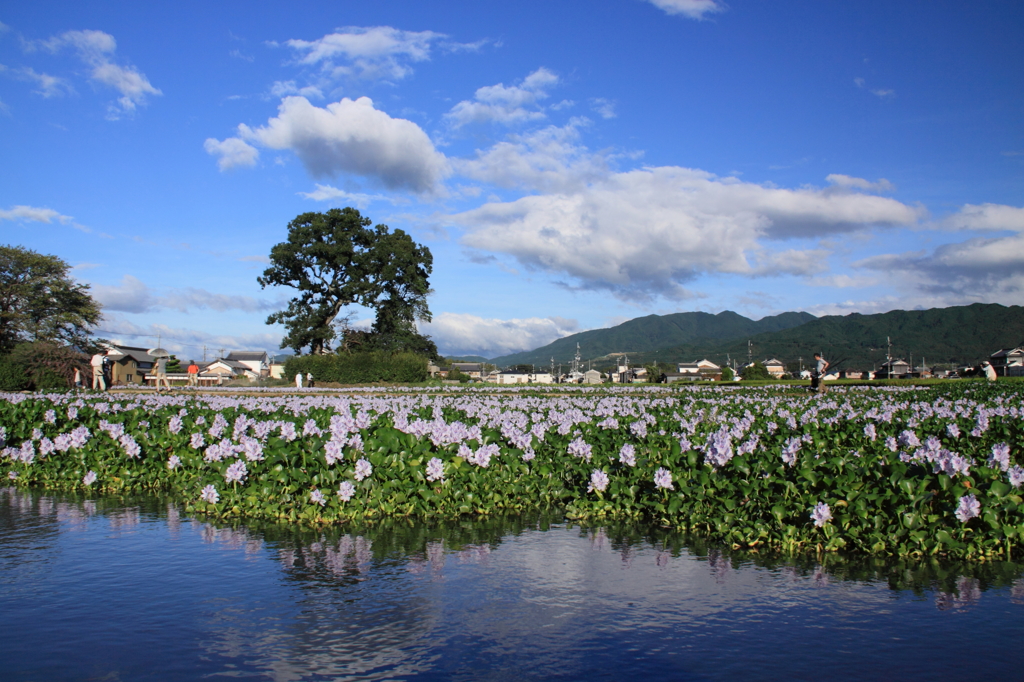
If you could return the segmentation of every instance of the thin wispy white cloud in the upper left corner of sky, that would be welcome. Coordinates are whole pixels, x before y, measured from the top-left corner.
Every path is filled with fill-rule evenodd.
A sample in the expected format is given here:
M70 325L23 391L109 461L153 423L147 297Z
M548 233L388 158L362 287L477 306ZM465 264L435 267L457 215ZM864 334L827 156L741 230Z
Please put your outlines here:
M108 109L110 119L120 118L123 114L133 114L138 105L145 103L147 95L163 94L135 67L115 63L114 52L117 50L117 41L109 33L68 31L43 41L40 45L51 52L66 47L74 49L79 58L91 68L90 80L121 93L117 103L111 104Z

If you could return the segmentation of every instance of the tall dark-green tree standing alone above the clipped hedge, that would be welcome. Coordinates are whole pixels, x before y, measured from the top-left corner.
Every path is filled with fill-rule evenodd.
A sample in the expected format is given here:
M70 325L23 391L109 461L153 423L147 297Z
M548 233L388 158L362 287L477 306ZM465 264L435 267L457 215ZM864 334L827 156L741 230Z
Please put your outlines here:
M270 250L260 286L283 286L299 294L267 317L288 334L282 347L325 353L338 335L335 318L348 305L376 310L372 343L390 350L425 346L416 321L429 321L427 294L433 256L400 229L373 225L353 208L303 213L288 223L288 241ZM413 347L411 347L413 346Z

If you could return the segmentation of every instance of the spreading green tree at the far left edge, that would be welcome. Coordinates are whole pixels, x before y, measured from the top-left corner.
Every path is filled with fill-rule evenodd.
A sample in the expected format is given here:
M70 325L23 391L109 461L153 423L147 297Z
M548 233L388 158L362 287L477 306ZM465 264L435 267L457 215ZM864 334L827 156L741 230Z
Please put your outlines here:
M70 271L56 256L0 246L0 352L36 341L89 346L100 306Z

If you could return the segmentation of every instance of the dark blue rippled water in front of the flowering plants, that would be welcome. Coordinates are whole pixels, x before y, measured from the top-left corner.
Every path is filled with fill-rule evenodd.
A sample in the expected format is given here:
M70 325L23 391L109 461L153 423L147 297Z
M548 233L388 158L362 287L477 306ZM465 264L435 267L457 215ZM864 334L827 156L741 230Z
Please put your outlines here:
M1017 680L1024 565L542 516L313 532L0 488L4 680Z

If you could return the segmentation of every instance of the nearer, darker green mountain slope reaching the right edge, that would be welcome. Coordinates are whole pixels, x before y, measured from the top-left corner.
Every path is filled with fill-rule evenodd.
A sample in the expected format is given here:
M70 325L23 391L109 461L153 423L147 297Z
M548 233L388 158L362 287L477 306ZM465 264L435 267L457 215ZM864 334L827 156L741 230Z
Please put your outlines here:
M1024 307L996 303L929 310L893 310L880 314L827 315L797 328L750 337L754 358L776 357L796 364L810 363L819 350L831 361L844 360L844 369L870 370L886 358L886 337L892 341L893 357L922 358L928 365L977 365L1000 348L1024 343ZM718 343L688 343L644 353L634 361L688 361L708 357L724 363L726 357L745 361L748 339Z

